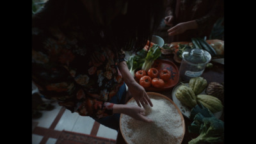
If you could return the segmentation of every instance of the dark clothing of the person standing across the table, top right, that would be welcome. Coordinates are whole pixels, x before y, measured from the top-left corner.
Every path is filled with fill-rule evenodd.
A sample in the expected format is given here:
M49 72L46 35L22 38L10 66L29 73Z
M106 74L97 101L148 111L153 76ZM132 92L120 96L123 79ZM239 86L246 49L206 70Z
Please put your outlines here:
M166 8L166 16L168 15L174 16L174 26L190 20L196 20L198 24L197 29L169 36L170 42L191 41L193 37L209 38L214 22L223 17L223 0L169 0Z

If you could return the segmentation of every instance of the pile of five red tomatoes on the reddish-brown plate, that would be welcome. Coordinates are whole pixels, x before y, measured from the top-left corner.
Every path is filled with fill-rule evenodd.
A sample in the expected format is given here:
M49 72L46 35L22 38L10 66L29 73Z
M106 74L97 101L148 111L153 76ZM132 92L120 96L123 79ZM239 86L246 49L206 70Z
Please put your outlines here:
M170 77L171 72L167 69L158 71L157 68L150 68L147 72L145 70L138 70L135 73L135 79L144 88L148 88L151 85L155 88L163 88Z

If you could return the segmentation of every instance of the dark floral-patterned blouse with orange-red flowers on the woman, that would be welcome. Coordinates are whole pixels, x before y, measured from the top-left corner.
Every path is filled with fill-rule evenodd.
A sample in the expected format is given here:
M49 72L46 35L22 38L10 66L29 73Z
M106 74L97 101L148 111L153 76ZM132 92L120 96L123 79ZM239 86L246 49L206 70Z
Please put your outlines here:
M32 79L45 98L82 116L113 115L109 100L124 84L117 67L124 51L86 47L79 26L33 26L32 35Z

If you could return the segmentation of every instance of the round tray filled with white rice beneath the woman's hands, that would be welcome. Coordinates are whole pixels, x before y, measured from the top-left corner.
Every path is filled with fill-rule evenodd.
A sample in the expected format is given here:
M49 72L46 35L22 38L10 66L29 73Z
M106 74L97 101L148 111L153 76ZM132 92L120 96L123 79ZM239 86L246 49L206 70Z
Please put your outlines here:
M130 116L121 115L120 130L128 144L179 144L182 142L185 125L179 109L168 97L148 92L153 107L146 106L146 116L154 122L146 123ZM137 105L134 99L127 104Z

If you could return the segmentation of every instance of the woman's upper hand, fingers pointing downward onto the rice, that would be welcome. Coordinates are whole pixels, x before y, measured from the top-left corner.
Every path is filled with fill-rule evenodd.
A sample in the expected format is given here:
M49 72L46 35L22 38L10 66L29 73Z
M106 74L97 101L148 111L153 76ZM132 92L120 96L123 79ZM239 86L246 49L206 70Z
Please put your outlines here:
M141 86L140 84L136 82L129 84L128 92L131 93L132 97L137 102L138 106L141 107L142 105L143 107L145 107L144 106L145 104L149 104L150 106L153 106L150 98L148 97L147 92L145 91L143 86Z

